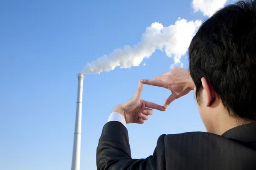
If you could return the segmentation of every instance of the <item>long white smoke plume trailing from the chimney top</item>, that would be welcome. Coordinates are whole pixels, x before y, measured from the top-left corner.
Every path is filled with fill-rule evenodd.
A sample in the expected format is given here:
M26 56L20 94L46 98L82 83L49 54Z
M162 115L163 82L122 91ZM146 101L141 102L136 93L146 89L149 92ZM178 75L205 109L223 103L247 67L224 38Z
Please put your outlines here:
M116 67L130 68L139 66L144 58L150 57L156 49L164 50L168 57L174 57L174 64L180 63L186 54L190 41L201 26L201 20L187 21L178 19L175 25L164 27L161 23L152 23L143 33L141 42L123 49L116 48L111 54L99 57L82 69L81 73L92 74L111 71Z

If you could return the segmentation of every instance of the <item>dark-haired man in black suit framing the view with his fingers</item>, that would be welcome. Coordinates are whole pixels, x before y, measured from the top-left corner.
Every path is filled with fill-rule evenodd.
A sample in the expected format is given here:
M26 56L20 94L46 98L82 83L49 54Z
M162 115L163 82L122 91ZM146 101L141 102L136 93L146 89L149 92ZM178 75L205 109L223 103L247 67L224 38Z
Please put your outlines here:
M168 88L163 106L140 99L143 85ZM132 159L126 123L194 90L207 133L161 135L152 156ZM256 170L256 1L239 1L209 18L189 46L189 71L174 68L141 80L117 105L97 147L98 170Z

